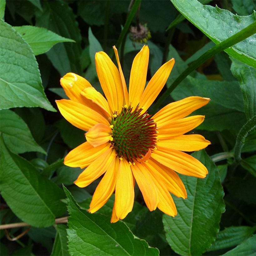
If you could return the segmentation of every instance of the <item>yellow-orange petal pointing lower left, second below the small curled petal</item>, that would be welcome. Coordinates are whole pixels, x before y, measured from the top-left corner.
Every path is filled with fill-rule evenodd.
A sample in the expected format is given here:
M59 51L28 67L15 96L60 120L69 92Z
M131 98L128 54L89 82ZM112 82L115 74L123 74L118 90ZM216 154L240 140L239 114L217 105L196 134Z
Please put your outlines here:
M115 150L108 149L105 153L94 160L74 182L78 187L83 188L98 179L111 165L115 158Z

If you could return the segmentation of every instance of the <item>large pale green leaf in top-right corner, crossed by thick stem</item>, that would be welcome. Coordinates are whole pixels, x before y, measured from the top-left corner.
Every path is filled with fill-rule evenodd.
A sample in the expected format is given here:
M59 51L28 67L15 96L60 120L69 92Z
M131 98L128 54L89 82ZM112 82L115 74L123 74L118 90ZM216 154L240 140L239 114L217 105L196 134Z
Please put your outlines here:
M197 0L171 2L183 16L216 44L249 26L256 19L254 13L250 16L238 16L217 6L203 5ZM253 35L227 48L225 52L247 65L256 67L255 40L256 35Z

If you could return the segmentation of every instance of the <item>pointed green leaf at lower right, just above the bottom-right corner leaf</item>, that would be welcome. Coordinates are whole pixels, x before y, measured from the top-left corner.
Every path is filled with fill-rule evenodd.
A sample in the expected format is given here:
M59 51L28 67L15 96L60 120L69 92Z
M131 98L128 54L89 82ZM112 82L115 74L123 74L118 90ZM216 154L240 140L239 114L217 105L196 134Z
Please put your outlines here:
M247 226L226 228L217 234L215 242L208 251L216 251L241 244L245 239L252 236L255 229L255 227Z

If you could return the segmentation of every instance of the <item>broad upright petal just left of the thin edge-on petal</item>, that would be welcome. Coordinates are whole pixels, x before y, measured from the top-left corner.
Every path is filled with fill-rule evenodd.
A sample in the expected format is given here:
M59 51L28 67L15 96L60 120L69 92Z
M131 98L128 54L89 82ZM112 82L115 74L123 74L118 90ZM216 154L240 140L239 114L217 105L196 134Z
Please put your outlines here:
M102 90L109 103L111 111L121 111L123 106L123 86L120 73L105 52L96 52L96 71Z

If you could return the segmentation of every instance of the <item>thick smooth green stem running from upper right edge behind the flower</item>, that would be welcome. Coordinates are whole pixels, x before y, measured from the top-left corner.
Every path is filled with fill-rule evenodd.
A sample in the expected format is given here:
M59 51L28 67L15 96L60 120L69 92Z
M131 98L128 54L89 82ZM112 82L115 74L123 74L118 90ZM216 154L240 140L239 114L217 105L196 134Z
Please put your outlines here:
M209 58L213 57L215 54L243 41L247 37L256 33L256 21L254 21L249 26L245 27L244 29L240 30L233 36L227 38L226 40L216 44L212 47L209 51L205 52L202 56L200 56L196 61L194 61L185 71L183 71L180 76L178 76L172 85L163 93L163 95L158 99L155 103L154 109L156 110L161 103L169 96L170 92L172 92L181 81L183 81L192 71L202 65L205 61Z

